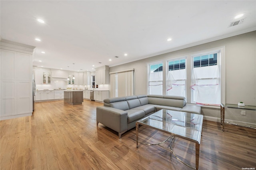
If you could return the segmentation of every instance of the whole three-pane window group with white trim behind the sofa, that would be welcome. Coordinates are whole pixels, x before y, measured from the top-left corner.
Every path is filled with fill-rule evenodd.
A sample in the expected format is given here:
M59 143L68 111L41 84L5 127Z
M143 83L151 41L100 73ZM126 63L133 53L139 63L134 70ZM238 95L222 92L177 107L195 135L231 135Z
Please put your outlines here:
M187 103L220 105L225 102L224 51L224 47L217 47L148 63L148 94L184 96Z

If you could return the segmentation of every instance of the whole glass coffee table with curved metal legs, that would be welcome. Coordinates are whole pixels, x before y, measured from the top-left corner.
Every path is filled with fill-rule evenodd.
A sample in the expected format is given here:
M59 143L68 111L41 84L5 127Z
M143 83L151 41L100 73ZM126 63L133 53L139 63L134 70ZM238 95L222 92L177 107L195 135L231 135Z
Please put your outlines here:
M158 145L164 149L170 150L174 156L184 165L188 166L189 168L198 170L202 124L203 115L162 109L136 122L136 146L138 148L139 125L166 132L170 134L170 136L162 142L156 144L140 143L146 145ZM174 139L174 136L184 138L196 144L196 168L186 164L176 156L172 149L172 140ZM169 138L171 138L170 149L160 145L166 142Z

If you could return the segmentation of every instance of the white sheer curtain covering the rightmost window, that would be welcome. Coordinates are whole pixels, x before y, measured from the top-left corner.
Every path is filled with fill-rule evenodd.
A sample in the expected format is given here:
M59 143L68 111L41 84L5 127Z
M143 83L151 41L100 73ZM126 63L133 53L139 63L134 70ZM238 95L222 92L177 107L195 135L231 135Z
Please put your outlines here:
M219 70L219 65L193 68L192 101L202 105L220 105Z

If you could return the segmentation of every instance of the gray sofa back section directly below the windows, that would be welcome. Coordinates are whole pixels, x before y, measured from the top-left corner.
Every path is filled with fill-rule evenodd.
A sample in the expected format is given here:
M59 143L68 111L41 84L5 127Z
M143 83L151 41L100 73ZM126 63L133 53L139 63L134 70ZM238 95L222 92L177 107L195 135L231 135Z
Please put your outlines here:
M185 97L181 96L148 95L148 103L182 108L185 106L186 101Z

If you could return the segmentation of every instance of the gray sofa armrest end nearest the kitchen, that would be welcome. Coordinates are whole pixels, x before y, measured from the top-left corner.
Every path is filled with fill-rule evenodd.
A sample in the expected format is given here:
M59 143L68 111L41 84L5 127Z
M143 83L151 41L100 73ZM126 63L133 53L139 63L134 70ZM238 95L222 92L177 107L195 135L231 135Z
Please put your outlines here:
M96 108L97 124L102 123L116 132L124 132L128 129L128 113L120 109L98 106Z

